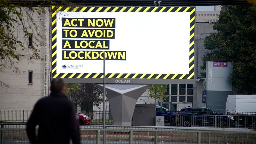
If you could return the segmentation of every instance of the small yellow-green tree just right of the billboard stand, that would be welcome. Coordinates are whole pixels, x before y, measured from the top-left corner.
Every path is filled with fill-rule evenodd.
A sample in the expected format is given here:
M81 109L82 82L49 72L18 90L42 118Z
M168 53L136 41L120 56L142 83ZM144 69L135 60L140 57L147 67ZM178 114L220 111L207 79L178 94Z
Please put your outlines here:
M149 93L147 94L150 98L153 98L155 100L156 104L156 99L163 99L166 100L167 95L166 93L166 87L167 84L151 84L148 88Z

